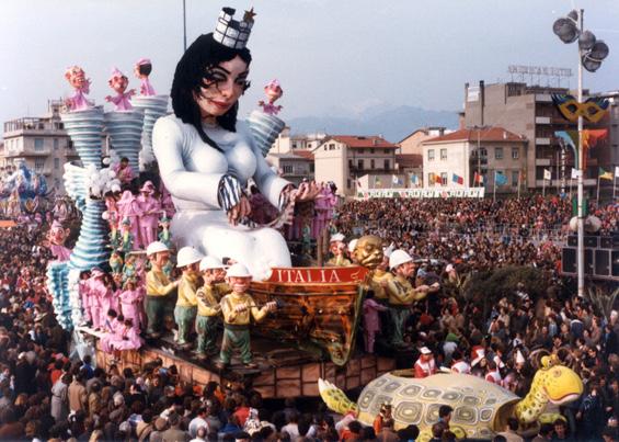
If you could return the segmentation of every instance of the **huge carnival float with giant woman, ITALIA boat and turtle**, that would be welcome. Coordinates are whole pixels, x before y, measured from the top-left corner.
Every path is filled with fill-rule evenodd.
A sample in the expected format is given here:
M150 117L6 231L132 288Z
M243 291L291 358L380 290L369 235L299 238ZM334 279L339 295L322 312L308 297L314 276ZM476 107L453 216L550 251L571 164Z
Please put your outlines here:
M396 367L393 358L356 351L369 291L379 301L386 299L388 291L396 292L401 302L394 306L398 310L432 293L434 284L408 286L412 258L403 251L389 257L391 250L372 236L353 245L353 264L343 254L343 238L329 228L333 207L329 202L334 199L330 188L309 181L297 188L266 162L270 147L285 126L277 116L282 106L275 104L283 89L277 80L267 83L266 101L247 122L237 121L238 99L250 86L251 56L245 44L255 13L245 11L238 21L234 12L225 8L215 32L199 36L187 48L170 97L154 92L149 82L152 64L147 58L134 67L141 82L139 93L128 89L128 78L119 69L113 69L108 84L115 95L106 101L114 109L107 112L88 99L90 80L83 69L67 70L74 93L67 99L61 118L80 161L65 165L65 186L81 213L81 224L69 250L68 223L76 216L69 202L58 203L48 235L56 260L49 263L47 284L59 324L74 331L78 348L94 342L102 365L133 366L160 359L180 365L186 382L249 379L265 398L321 394L335 411L354 411L369 424L383 403L392 404L401 426L431 422L436 404L452 405L455 423L478 438L490 438L514 413L523 422L525 416L526 422L536 420L535 404L523 405L530 403L530 395L518 401L508 390L473 376L405 377L389 373ZM107 151L102 144L105 137ZM271 219L252 217L250 185L275 208ZM305 214L314 211L317 223L303 223ZM313 265L293 265L283 233L317 242ZM323 265L328 248L333 258ZM179 251L174 262L169 259L171 250ZM223 287L223 273L218 273L223 264L229 286L218 292ZM396 276L386 271L388 265L398 269ZM174 268L181 272L176 282L171 279ZM126 287L122 303L136 308L134 321L146 320L145 305L150 321L144 345L130 322L124 326L133 332L136 347L122 354L101 332L110 319L108 295L106 303L93 307L91 295L82 291L105 292L102 270L110 270ZM197 290L199 274L204 279L213 274L217 291ZM136 292L140 284L141 294ZM196 320L192 299L198 305L197 319L209 332L216 333L221 325L220 319L209 322L206 316L223 316L219 361L214 358L213 337L205 342L198 336L203 352L197 356L187 351L192 347L187 335ZM174 325L170 325L174 303L175 340ZM202 319L200 311L207 311ZM260 355L257 364L248 358L249 330L253 351ZM230 340L236 340L242 364L236 363L238 358L230 360ZM358 405L339 389L362 386ZM580 395L582 383L568 369L547 361L531 394L536 388L557 401ZM531 408L536 408L535 417L527 415Z

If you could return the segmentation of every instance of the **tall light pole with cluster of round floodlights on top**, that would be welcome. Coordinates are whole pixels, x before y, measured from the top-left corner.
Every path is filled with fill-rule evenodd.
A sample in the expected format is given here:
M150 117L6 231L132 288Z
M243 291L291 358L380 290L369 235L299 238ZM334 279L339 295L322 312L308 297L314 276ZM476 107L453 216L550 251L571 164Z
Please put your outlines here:
M571 11L568 16L558 19L552 25L554 34L566 44L578 41L578 103L583 102L583 68L595 72L601 66L601 61L608 56L608 45L598 41L591 31L584 31L584 10ZM578 113L578 192L577 192L577 219L578 219L578 248L577 248L577 280L578 296L585 294L585 216L583 204L584 181L584 149L583 149L583 114Z

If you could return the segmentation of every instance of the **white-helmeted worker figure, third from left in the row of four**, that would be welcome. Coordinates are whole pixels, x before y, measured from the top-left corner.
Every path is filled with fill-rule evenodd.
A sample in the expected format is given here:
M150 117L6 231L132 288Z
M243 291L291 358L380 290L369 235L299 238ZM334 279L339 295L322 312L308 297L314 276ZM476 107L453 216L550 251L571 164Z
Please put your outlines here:
M202 273L204 285L196 292L196 355L198 359L206 359L208 355L217 353L215 343L217 325L221 314L219 302L230 292L230 287L226 284L226 268L217 258L203 258L199 262L199 272Z

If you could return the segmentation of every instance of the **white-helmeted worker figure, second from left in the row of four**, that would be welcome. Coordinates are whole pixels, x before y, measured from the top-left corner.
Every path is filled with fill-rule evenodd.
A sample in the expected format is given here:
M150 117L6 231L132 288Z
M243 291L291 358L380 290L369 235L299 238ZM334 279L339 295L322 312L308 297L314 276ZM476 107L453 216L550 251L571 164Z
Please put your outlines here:
M197 299L196 291L199 280L198 267L204 256L193 247L183 247L176 256L176 267L182 270L179 283L179 297L174 308L174 320L179 326L176 343L181 347L191 347L187 342L190 328L196 318Z

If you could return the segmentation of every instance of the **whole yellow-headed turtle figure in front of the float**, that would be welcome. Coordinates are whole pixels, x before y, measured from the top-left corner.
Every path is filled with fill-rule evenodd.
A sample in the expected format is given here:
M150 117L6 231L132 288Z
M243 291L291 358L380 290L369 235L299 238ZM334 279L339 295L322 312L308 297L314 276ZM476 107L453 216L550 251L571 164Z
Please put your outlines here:
M564 405L583 393L578 375L554 356L542 358L524 399L480 377L456 373L415 378L409 370L390 372L366 385L357 404L328 381L319 379L318 384L329 408L342 415L352 412L367 426L372 424L383 404L391 404L396 429L414 423L422 432L420 441L432 437L442 405L454 408L449 429L458 438L492 439L505 430L509 417L516 417L520 430L528 431L538 421L554 419L554 415L542 416L549 403Z

